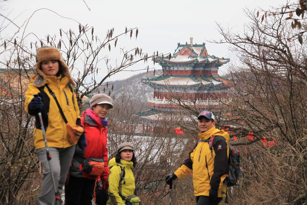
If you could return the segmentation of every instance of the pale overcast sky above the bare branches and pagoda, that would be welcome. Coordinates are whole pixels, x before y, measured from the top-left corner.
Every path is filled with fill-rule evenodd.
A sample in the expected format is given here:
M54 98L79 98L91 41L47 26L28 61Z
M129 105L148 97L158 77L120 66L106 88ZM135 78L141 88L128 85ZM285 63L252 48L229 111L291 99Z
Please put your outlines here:
M226 44L213 44L206 40L219 40L220 36L216 22L223 27L233 28L236 32L242 32L244 23L248 22L243 9L270 9L270 6L284 4L277 0L236 0L236 1L97 1L97 0L8 0L1 1L0 12L14 19L17 25L30 17L33 11L40 8L48 8L58 14L75 19L81 24L94 26L94 35L104 37L106 31L112 27L124 31L125 27L138 27L137 40L129 37L120 38L118 45L128 48L141 47L149 54L153 51L159 53L173 53L177 43L189 43L189 37L193 37L193 43L206 42L209 55L217 57L230 57ZM3 18L1 18L1 21ZM72 20L64 19L56 14L41 10L34 14L30 20L25 33L33 32L38 37L44 38L46 34L59 35L59 28L78 30L78 24ZM7 35L15 32L14 26L9 27ZM1 36L3 37L3 33ZM21 36L21 34L17 34ZM158 64L153 65L148 61L150 67L161 69ZM133 69L142 69L147 66L139 63ZM227 71L227 65L220 67L221 72ZM220 72L220 73L221 73ZM110 80L124 79L137 72L122 72L116 74Z

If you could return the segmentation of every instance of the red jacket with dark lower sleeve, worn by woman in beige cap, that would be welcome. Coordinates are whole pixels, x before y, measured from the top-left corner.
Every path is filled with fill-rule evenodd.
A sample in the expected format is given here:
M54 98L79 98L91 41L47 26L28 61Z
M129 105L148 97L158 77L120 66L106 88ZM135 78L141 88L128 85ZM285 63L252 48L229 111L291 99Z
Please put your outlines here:
M107 152L107 132L108 128L101 124L100 118L90 109L82 113L81 125L84 127L86 137L86 147L84 152L76 145L76 151L72 158L70 175L75 177L86 177L88 179L98 179L99 176L89 175L82 171L82 161L85 158L99 158L104 160L105 170L100 176L101 179L107 179L108 169L108 152Z

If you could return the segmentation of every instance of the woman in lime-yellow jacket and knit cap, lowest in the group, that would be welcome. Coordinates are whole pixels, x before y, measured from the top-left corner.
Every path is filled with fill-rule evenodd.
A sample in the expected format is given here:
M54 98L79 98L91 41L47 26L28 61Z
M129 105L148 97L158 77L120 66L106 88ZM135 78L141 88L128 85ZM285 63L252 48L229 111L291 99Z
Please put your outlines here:
M135 179L132 168L136 165L134 146L128 142L120 144L114 158L109 161L108 205L139 204L134 195Z

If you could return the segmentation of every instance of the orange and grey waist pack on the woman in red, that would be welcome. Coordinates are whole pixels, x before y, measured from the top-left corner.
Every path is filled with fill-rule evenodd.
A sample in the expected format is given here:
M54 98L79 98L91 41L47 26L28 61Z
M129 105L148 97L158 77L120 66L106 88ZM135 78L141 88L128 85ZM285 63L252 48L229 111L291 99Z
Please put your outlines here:
M82 171L89 175L100 176L104 171L104 161L98 158L88 158L82 162Z

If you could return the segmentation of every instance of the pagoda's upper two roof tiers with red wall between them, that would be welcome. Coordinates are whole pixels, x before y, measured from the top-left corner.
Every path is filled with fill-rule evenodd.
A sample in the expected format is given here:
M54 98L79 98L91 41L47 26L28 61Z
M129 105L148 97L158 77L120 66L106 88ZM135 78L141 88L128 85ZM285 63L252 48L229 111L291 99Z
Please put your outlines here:
M142 79L142 83L155 89L165 87L193 87L221 89L229 81L218 74L218 67L229 62L229 58L218 58L208 55L205 43L178 43L171 58L157 57L153 59L163 69L163 75L156 78Z

